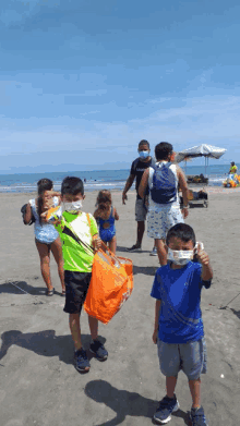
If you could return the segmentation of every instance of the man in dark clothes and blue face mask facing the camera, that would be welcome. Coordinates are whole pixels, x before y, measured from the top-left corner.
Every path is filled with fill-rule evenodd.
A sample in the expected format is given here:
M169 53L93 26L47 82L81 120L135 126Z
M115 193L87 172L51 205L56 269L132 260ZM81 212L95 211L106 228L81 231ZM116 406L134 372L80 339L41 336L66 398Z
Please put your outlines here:
M122 192L122 204L125 204L125 200L128 199L127 193L132 186L134 179L136 179L135 182L135 190L136 190L135 220L137 222L136 243L133 244L131 248L129 248L129 252L139 251L142 247L142 240L145 231L145 220L147 215L148 190L146 188L145 196L143 198L139 196L137 190L144 171L148 169L151 166L155 165L155 161L151 157L149 151L151 151L149 143L145 139L142 139L139 143L139 158L136 158L132 162L130 175L125 182L125 186ZM152 255L156 255L156 254L157 253L154 247Z

